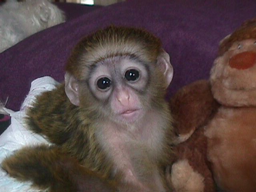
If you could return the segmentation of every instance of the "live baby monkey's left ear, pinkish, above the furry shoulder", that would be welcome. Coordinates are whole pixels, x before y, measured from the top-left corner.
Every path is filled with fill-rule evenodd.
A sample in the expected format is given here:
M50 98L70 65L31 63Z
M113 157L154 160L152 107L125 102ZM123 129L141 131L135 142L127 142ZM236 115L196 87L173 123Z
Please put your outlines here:
M78 82L76 78L68 72L65 74L65 92L70 102L79 106Z

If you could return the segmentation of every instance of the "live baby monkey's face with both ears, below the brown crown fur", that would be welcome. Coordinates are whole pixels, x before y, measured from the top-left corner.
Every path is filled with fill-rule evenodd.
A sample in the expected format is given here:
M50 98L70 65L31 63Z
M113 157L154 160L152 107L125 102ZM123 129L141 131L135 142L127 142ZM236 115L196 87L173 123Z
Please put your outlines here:
M155 62L127 55L79 66L83 72L79 79L66 73L65 90L70 102L90 118L131 124L151 110L162 110L166 103L173 70L164 51Z

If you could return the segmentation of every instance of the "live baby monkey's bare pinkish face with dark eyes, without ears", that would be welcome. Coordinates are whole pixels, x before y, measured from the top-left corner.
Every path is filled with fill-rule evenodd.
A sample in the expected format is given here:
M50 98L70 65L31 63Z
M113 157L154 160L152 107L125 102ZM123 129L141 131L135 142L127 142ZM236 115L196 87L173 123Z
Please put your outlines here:
M145 103L151 97L149 79L146 63L117 56L91 66L86 82L100 114L131 123L144 116Z

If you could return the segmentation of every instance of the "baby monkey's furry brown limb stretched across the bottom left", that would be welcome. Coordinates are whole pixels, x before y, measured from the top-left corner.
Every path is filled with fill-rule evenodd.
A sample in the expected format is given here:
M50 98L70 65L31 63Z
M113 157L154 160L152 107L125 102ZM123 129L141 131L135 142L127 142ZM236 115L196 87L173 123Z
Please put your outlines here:
M10 176L32 181L33 186L63 191L114 191L114 183L81 166L75 158L62 154L55 146L25 147L2 164Z

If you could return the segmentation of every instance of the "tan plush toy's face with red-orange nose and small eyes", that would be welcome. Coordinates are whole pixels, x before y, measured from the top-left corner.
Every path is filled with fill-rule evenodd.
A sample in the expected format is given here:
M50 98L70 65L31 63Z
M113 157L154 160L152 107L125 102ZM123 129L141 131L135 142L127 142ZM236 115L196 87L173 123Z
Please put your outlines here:
M234 42L216 58L210 81L214 97L225 105L254 105L256 96L256 39Z

